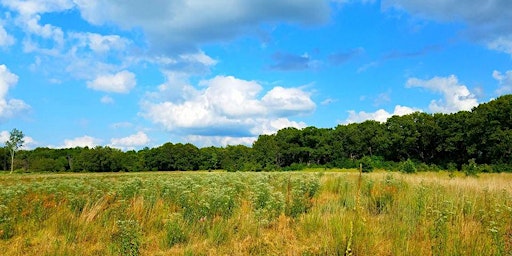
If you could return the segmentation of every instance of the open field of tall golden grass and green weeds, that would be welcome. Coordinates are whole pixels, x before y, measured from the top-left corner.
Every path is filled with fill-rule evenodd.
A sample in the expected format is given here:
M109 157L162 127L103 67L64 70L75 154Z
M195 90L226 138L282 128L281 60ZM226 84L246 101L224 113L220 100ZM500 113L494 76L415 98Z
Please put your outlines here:
M4 255L510 255L512 174L0 175Z

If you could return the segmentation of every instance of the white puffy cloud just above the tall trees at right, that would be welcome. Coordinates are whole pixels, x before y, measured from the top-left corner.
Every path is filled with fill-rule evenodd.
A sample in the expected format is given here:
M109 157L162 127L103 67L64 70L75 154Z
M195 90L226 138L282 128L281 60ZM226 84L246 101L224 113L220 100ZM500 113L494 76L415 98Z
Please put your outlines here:
M444 99L432 100L429 109L432 112L454 113L461 110L471 110L478 105L476 96L465 85L459 84L455 75L434 77L430 80L410 78L406 87L420 87L441 93Z

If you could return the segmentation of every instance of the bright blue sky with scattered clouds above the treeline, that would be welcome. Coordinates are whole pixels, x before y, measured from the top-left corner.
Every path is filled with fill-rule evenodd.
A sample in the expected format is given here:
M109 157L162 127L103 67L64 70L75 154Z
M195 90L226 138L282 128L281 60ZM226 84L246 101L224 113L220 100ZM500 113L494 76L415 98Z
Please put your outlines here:
M512 93L510 0L0 0L0 141L251 145Z

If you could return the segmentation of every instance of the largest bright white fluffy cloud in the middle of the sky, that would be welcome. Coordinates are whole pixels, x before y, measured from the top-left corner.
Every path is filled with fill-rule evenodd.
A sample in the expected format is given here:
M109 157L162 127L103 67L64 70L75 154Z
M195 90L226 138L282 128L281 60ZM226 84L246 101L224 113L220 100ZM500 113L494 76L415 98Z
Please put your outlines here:
M305 126L287 118L310 113L316 107L309 94L299 88L275 87L260 98L261 85L231 76L204 80L199 86L200 90L184 84L162 85L158 93L142 102L141 115L168 131L185 135L241 138L285 126ZM180 97L166 97L169 93Z

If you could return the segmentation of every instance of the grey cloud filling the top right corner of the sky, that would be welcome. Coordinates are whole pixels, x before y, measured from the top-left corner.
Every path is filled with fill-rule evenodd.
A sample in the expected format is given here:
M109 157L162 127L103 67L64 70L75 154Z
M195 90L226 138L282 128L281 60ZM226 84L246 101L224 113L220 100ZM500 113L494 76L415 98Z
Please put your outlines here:
M383 9L395 8L427 19L462 21L472 40L490 49L512 54L512 1L509 0L385 0Z

